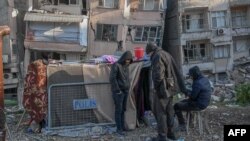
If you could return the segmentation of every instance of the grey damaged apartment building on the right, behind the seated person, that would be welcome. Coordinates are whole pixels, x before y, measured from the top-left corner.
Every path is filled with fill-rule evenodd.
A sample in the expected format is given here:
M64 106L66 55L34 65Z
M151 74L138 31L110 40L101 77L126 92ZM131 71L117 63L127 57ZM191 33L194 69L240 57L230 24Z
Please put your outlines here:
M169 0L167 49L186 74L194 65L220 74L249 57L249 0ZM217 75L219 74L219 75Z

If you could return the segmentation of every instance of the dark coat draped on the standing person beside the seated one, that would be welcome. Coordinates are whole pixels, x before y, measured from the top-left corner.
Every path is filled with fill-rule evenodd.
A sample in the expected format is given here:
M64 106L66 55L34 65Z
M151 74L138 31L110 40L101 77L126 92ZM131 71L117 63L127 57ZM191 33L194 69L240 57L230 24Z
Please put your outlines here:
M152 78L159 98L167 98L173 92L186 93L184 80L172 56L161 48L153 48L151 56Z

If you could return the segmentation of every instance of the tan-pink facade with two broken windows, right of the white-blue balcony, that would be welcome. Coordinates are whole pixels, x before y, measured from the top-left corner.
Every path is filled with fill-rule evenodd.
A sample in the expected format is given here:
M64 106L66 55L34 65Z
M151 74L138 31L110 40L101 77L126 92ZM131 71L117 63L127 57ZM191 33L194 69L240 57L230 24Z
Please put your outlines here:
M89 54L114 54L118 45L133 52L148 41L161 44L165 0L91 0Z

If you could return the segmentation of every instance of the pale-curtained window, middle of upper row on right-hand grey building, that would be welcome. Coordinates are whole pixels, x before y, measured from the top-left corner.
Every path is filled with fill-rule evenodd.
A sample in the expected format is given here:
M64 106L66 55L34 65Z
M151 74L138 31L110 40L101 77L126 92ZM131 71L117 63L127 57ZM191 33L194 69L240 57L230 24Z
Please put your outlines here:
M212 12L212 27L213 28L226 27L225 11Z

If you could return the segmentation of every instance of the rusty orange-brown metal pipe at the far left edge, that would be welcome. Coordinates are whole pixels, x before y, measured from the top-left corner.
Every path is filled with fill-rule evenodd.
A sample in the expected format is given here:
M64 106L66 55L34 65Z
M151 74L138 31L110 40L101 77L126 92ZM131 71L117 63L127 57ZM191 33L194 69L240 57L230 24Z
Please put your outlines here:
M3 89L3 37L10 34L8 26L0 26L0 140L5 141L5 114L4 114L4 89Z

